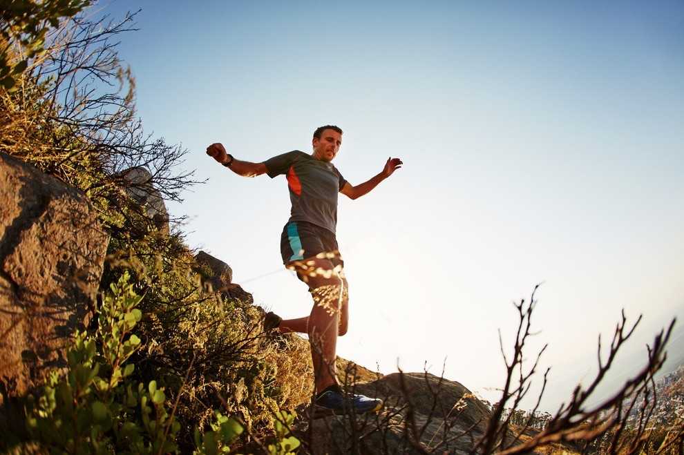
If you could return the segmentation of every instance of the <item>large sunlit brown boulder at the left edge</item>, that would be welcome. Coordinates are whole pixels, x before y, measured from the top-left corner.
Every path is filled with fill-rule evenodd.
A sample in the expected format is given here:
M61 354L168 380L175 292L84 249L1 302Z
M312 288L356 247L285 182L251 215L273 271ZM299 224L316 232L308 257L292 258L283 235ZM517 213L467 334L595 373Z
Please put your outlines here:
M84 193L3 153L0 201L3 430L10 402L66 366L64 348L92 316L109 237Z

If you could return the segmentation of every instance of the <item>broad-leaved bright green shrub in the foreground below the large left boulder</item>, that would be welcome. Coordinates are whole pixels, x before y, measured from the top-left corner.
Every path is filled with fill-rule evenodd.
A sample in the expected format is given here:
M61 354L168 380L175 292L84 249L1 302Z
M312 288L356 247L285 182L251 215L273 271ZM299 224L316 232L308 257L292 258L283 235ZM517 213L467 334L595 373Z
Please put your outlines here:
M140 349L131 333L142 317L140 300L124 273L103 298L95 335L76 334L66 376L53 372L43 394L28 398L28 431L50 453L175 451L180 425L163 389L154 380L134 383L135 367L126 363Z

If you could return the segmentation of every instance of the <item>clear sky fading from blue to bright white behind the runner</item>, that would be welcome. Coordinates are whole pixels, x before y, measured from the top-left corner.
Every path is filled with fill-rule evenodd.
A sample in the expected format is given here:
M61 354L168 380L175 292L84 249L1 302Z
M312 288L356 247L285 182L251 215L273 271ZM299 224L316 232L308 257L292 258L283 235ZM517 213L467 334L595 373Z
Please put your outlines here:
M237 177L207 145L259 162L310 151L313 130L337 124L335 164L352 184L403 159L369 195L341 200L351 320L339 355L383 373L445 365L470 389L499 387L499 331L511 345L512 302L543 282L528 357L549 344L554 407L591 377L620 311L644 318L630 365L684 320L684 2L97 8L142 8L120 45L138 113L208 179L169 204L190 217L190 246L285 318L310 310L278 252L285 179Z

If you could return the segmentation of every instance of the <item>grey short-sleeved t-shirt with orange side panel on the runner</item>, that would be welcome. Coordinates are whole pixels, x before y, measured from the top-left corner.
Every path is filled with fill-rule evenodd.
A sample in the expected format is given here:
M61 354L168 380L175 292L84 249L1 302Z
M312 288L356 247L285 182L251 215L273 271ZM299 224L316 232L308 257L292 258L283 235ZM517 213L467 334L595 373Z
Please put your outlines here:
M337 195L347 181L332 163L302 151L267 159L268 176L287 176L292 211L289 221L305 221L332 233L337 226Z

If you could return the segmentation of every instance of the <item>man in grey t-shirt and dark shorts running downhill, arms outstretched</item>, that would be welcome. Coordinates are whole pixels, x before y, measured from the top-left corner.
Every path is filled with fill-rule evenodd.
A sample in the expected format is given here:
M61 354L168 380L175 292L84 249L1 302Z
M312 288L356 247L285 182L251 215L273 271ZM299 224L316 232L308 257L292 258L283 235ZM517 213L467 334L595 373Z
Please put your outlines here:
M376 412L382 400L363 395L345 396L335 367L337 337L347 333L348 283L335 237L337 195L354 200L401 168L401 159L388 158L383 170L367 182L352 185L332 164L342 144L342 130L326 125L314 131L311 155L292 151L252 163L235 159L222 144L211 144L207 155L243 177L267 174L274 178L285 175L289 186L292 211L281 235L281 254L287 269L305 282L314 300L309 316L282 320L274 313L265 317L266 330L278 328L281 333L307 333L314 364L316 409L345 412Z

